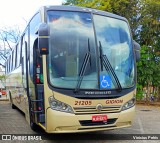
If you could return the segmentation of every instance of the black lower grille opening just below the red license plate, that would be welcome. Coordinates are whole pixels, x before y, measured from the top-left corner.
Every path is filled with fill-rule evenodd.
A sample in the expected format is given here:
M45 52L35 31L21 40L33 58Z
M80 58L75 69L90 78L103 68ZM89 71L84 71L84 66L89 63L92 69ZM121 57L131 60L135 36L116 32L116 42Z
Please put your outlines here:
M81 126L99 126L99 125L109 125L109 124L114 124L116 122L117 118L113 119L108 119L107 122L92 122L92 120L82 120L79 121Z

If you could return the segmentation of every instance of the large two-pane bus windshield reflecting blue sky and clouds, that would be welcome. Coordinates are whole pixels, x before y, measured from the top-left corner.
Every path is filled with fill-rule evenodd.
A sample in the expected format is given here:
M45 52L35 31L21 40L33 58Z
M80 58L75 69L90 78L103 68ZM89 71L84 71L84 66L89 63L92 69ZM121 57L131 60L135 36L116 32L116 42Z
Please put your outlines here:
M122 88L134 85L134 58L125 21L69 11L48 11L47 20L50 25L47 66L52 86L116 89L112 73ZM112 73L101 55L108 59Z

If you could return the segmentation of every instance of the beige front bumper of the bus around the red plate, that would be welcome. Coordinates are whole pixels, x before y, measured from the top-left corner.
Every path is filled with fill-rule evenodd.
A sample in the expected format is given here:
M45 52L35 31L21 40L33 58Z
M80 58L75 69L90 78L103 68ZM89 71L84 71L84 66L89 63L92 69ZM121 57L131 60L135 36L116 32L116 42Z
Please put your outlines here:
M106 125L82 125L81 121L92 121L93 115L75 115L47 109L46 132L48 133L76 133L104 131L116 128L130 127L135 114L135 106L120 113L107 113L108 119L116 119L114 123Z

